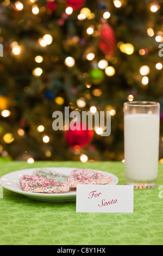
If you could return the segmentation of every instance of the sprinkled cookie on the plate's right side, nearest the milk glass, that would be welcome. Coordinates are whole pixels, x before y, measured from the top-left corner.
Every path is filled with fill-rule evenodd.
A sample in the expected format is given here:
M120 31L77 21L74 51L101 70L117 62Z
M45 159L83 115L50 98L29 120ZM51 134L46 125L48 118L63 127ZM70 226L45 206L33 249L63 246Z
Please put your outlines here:
M65 184L74 188L77 187L77 184L108 184L111 181L110 176L104 175L100 171L78 168L68 175Z

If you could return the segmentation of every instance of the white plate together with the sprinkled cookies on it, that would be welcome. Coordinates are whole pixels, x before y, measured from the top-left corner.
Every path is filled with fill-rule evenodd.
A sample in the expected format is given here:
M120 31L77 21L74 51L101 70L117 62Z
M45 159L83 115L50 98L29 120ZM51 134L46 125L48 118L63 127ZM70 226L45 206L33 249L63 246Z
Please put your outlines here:
M86 168L30 168L5 174L2 187L31 199L62 202L76 200L77 184L116 185L112 173Z

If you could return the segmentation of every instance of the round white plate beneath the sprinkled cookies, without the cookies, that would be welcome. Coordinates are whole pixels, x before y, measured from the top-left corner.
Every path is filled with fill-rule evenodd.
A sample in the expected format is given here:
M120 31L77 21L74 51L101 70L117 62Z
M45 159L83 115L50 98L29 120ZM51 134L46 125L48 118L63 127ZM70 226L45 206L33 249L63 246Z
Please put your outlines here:
M39 168L31 168L31 169L24 169L24 170L16 170L15 172L11 172L8 174L5 174L0 178L0 184L7 188L8 190L12 192L16 192L18 194L22 194L23 196L26 196L31 199L35 200L41 200L41 201L49 201L49 202L61 202L61 201L73 201L76 200L76 189L68 191L66 193L56 193L56 194L49 194L49 193L33 193L33 192L25 192L22 191L20 185L19 185L19 179L22 175L31 175L33 174L34 170L37 170ZM69 175L72 170L75 170L77 168L65 168L65 167L49 167L49 168L40 168L40 169L48 169L52 170L54 172L62 173L65 175ZM96 170L97 171L97 170ZM118 178L112 173L103 172L102 174L111 176L112 181L109 184L106 184L106 186L109 185L116 185L118 183Z

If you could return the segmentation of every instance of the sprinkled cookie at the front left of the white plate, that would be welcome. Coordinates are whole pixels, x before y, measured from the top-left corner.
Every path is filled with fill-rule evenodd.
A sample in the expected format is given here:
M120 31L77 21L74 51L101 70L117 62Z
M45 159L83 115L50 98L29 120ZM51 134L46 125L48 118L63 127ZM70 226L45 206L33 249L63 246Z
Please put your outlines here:
M20 185L23 191L35 193L62 193L70 190L66 184L36 175L22 175Z

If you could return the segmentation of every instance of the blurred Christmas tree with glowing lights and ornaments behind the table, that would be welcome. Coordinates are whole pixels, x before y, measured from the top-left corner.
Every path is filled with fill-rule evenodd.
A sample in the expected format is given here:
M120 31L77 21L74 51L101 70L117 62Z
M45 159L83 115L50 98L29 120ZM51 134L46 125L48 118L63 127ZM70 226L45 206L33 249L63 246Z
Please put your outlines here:
M158 101L163 158L161 1L4 0L2 160L123 161L123 102ZM109 111L111 134L54 131L54 111ZM82 144L83 143L83 144Z

